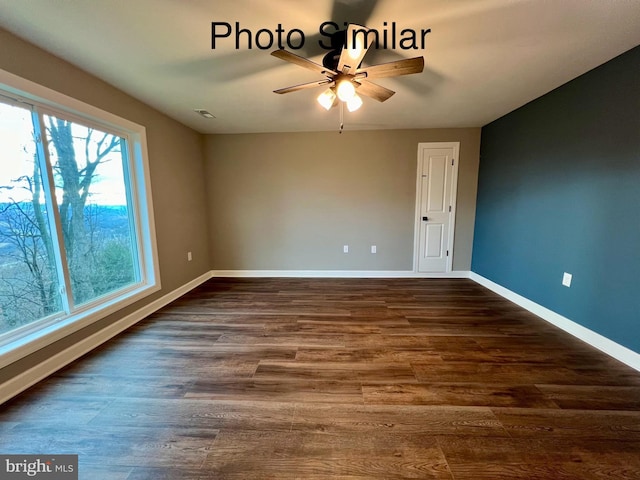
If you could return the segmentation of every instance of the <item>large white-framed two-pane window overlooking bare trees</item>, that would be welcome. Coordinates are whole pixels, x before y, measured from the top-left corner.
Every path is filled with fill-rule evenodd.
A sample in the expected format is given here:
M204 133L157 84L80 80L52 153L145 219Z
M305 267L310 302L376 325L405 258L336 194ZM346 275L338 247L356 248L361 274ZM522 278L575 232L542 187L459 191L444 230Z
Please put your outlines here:
M5 353L16 341L79 328L157 290L158 282L144 129L92 107L91 114L72 111L1 87Z

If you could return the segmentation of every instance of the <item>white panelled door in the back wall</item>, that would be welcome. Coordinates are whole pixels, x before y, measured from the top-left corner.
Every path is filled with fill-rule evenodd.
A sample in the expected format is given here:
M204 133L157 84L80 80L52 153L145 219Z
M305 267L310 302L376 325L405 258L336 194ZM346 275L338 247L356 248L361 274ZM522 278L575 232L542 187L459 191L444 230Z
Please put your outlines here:
M418 272L446 273L453 264L459 143L420 143L416 198Z

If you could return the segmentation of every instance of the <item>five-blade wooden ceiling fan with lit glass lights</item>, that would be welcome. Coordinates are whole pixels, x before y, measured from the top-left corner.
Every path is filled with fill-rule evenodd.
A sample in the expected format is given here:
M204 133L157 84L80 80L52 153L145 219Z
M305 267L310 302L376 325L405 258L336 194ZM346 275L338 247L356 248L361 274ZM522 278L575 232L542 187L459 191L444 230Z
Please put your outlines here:
M379 102L388 100L395 92L370 80L420 73L424 70L424 58L414 57L361 67L362 59L371 46L368 31L367 27L356 24L349 24L346 31L337 31L331 39L334 50L324 56L322 65L284 49L271 52L274 57L325 76L322 80L280 88L274 90L274 93L284 94L326 86L327 90L320 94L318 103L329 110L343 102L350 112L362 106L362 99L358 94Z

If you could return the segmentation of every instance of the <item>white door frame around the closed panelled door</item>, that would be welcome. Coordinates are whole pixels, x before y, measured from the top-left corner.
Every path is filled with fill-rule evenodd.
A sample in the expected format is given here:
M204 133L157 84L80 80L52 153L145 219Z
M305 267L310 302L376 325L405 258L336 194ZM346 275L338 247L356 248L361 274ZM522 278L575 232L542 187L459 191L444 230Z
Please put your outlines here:
M413 226L413 272L424 273L418 271L419 255L420 255L420 227L422 225L422 218L420 214L420 198L422 196L422 174L420 169L420 160L422 158L422 150L429 148L453 148L453 171L451 174L451 217L449 222L449 239L447 243L447 250L449 255L447 256L447 267L444 274L449 274L453 271L453 245L456 229L456 203L458 200L458 167L460 165L460 142L420 142L418 143L418 153L416 155L416 206L414 215ZM442 273L429 274L433 276L443 275Z

